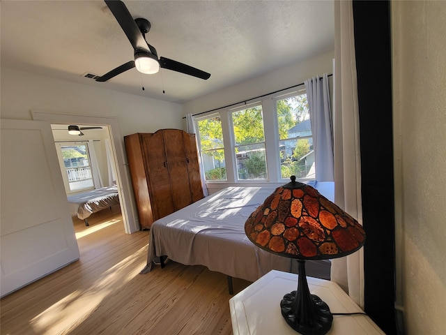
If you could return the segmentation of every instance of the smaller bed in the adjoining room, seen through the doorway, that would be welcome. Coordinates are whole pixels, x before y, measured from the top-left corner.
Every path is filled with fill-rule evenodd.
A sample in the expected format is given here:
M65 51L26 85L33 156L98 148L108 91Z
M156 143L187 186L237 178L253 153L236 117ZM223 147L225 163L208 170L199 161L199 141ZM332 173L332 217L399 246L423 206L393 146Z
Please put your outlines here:
M91 214L119 204L117 186L101 187L93 191L68 195L67 198L71 214L84 220L87 226L89 225L87 218Z

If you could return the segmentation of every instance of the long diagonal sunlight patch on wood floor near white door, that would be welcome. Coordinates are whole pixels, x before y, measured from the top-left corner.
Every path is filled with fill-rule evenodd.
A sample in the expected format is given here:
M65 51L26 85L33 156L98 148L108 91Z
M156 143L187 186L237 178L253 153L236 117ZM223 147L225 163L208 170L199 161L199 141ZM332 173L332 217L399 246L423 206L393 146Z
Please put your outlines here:
M113 223L109 223L113 224ZM105 271L100 279L60 299L30 320L36 334L69 334L95 313L107 296L127 284L141 271L139 256L147 253L146 246ZM52 332L47 332L51 329ZM54 332L54 333L53 333Z

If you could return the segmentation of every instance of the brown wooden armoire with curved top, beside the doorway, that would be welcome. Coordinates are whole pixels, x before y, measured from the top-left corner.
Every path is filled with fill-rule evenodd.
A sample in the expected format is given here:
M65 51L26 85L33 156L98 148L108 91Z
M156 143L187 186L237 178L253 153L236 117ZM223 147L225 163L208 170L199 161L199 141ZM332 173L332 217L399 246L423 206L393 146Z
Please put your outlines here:
M124 137L141 230L203 198L195 141L180 129Z

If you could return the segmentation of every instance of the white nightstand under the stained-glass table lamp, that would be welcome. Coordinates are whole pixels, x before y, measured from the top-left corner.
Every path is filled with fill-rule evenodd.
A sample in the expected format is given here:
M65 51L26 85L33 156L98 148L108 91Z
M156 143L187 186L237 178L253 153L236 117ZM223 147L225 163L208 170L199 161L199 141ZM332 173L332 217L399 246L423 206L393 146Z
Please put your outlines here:
M307 277L309 290L332 313L363 312L337 283ZM282 317L280 301L298 288L298 275L272 270L229 300L234 335L296 335ZM333 315L330 335L383 334L366 315Z

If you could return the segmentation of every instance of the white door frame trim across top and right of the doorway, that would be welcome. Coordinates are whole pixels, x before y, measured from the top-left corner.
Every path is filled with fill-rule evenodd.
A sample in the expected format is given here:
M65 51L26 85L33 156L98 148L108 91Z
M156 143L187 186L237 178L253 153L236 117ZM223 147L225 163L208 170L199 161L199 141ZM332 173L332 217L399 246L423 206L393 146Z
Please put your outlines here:
M31 115L33 120L47 121L49 124L95 124L108 127L117 172L116 185L118 186L124 229L127 234L139 231L139 220L133 198L132 185L130 184L130 173L117 117L58 114L38 110L31 110Z

